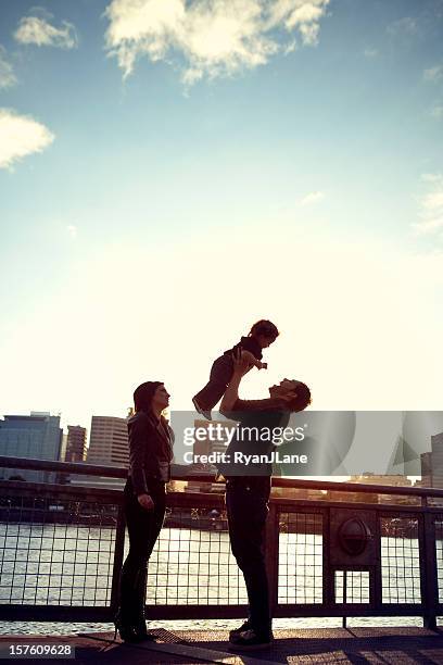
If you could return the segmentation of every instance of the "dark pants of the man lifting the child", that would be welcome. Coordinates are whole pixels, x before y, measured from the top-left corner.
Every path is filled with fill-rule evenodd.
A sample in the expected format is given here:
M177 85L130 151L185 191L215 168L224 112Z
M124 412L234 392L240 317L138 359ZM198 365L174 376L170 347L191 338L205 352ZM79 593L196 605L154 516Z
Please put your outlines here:
M230 477L226 481L226 509L232 554L243 573L250 604L250 623L257 633L270 632L269 590L263 550L270 478Z

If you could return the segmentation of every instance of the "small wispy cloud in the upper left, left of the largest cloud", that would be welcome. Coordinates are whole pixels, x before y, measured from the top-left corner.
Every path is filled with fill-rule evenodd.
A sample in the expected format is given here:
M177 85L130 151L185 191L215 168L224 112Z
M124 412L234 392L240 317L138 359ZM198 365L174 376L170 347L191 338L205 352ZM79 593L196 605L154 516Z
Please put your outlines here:
M51 15L49 15L51 17ZM20 43L34 43L36 46L52 46L60 49L74 49L78 45L75 26L62 21L58 28L49 20L38 16L24 16L18 23L14 37Z

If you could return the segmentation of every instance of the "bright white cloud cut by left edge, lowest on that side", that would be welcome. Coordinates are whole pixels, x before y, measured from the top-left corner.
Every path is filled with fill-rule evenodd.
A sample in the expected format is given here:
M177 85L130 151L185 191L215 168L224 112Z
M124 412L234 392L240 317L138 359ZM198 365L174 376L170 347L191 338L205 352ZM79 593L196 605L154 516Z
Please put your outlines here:
M34 118L0 109L0 168L10 168L24 156L41 152L54 138L45 125Z

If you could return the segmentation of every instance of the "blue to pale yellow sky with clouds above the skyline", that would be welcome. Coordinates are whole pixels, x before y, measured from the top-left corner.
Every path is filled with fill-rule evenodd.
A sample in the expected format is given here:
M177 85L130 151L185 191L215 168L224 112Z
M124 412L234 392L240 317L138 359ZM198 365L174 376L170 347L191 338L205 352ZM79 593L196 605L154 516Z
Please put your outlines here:
M442 0L2 0L0 415L440 410ZM37 0L38 2L38 0Z

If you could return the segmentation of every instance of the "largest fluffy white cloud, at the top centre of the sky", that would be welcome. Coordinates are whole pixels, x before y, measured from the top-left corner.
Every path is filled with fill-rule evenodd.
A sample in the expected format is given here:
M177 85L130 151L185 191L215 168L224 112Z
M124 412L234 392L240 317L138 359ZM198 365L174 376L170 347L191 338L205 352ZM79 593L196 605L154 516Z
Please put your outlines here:
M142 55L178 66L187 85L266 64L276 53L318 41L330 0L112 0L110 55L126 78Z

